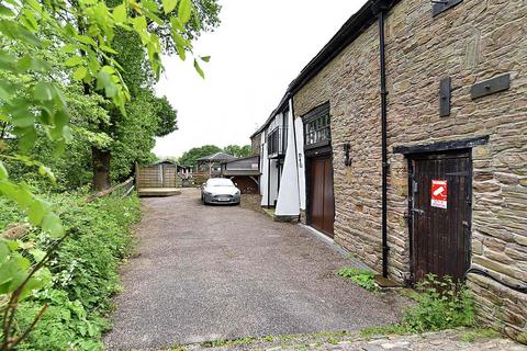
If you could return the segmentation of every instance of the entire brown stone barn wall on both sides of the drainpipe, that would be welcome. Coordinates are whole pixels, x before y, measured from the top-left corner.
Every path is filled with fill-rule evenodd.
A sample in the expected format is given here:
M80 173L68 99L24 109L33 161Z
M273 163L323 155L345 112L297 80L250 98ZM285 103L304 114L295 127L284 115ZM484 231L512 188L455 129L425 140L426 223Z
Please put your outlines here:
M406 159L395 146L490 135L473 148L472 265L527 285L527 2L464 0L431 16L402 0L386 18L389 272L410 273ZM381 125L378 29L371 25L294 95L301 116L330 103L335 238L381 269ZM474 82L511 73L511 89L472 100ZM452 79L452 110L439 116L439 81ZM344 166L349 141L352 166ZM470 274L480 317L525 332L527 295Z

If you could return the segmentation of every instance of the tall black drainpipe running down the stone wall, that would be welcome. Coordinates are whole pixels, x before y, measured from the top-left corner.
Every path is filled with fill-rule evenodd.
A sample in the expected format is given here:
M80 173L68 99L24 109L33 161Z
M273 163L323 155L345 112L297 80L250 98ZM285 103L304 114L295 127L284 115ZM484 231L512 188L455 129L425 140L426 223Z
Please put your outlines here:
M378 3L379 19L379 52L381 68L381 133L382 133L382 276L388 278L388 143L386 143L386 115L388 115L388 90L386 67L384 53L384 11L385 5Z

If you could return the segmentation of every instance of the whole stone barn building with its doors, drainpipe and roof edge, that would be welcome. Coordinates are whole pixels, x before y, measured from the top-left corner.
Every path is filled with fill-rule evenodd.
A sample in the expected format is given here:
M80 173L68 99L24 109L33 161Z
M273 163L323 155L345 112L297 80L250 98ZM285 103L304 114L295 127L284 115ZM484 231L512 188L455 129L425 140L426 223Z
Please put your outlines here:
M284 213L400 284L467 281L481 319L527 336L525 1L368 1L273 113Z

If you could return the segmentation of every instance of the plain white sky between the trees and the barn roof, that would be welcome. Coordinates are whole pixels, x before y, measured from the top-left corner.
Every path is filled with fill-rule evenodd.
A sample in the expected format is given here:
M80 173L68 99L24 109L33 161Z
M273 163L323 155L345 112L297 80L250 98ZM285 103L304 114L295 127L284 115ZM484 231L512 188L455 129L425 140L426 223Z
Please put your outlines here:
M288 84L366 0L220 0L218 29L194 43L205 80L178 57L165 57L157 86L178 110L179 131L159 138L158 157L206 144L249 144Z

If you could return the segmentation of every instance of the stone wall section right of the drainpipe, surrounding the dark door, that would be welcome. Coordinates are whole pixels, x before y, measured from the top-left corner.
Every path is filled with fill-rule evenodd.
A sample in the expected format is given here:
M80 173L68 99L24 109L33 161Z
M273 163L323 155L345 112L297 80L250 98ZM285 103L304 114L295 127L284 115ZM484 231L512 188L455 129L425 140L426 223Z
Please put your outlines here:
M406 0L386 21L389 147L490 135L472 149L472 265L527 285L527 2L464 0L433 18ZM511 73L508 91L476 100L470 88ZM439 116L439 81L452 79L451 115ZM407 270L406 161L390 157L390 272ZM525 332L527 295L469 275L481 316ZM500 296L496 304L494 296ZM519 305L518 305L519 304ZM523 308L522 308L523 307ZM493 310L491 314L490 312ZM500 313L497 312L500 310ZM498 315L501 314L501 316Z

